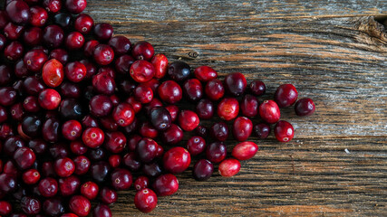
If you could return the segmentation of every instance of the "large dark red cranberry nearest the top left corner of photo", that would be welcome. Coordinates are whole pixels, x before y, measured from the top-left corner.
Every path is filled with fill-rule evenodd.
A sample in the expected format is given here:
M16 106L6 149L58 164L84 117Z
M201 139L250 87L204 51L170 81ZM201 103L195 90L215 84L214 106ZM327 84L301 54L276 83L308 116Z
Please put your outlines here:
M22 0L14 0L5 7L8 17L15 24L27 24L30 17L30 7Z

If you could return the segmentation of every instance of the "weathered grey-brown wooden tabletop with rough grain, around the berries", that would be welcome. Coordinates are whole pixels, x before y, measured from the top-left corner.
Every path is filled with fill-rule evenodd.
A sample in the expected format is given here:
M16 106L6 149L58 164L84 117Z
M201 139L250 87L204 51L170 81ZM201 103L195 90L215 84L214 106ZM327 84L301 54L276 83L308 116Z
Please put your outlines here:
M311 118L283 109L293 141L256 141L260 151L234 178L178 175L179 193L149 216L386 216L387 2L256 2L89 1L97 22L151 42L170 61L264 80L261 99L293 83L316 104ZM148 216L133 196L120 194L114 216Z

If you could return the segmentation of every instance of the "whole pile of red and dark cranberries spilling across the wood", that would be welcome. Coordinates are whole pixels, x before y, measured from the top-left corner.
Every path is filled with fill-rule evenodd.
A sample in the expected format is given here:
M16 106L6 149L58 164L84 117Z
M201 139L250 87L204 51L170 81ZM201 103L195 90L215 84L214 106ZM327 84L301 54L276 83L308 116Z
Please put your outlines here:
M191 157L198 181L214 165L237 175L258 150L247 141L253 132L263 139L275 125L278 141L294 137L280 108L314 113L292 84L261 102L262 81L247 86L242 73L219 80L208 66L191 73L149 42L113 36L110 24L81 14L85 7L86 0L7 0L0 10L1 216L111 216L108 205L128 189L137 191L140 212L151 212L158 197L178 191L175 175ZM199 125L215 116L221 121ZM237 145L227 151L230 135Z

